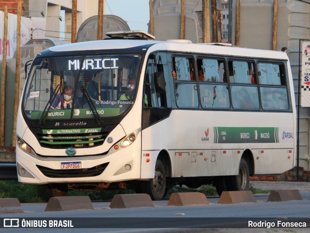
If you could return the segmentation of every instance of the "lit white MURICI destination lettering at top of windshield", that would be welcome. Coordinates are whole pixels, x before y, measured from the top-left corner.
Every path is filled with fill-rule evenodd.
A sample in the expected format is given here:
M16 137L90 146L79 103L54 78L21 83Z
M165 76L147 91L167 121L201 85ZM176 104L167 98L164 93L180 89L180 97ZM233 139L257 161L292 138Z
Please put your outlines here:
M96 58L85 59L82 69L117 69L116 61L118 58ZM78 70L80 67L80 60L68 60L69 70Z

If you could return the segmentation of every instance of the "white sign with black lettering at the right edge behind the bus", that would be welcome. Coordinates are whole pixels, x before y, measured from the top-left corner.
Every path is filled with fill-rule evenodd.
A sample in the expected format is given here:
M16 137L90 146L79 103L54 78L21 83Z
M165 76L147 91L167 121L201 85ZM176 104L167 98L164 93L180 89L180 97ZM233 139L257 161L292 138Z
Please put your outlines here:
M310 41L302 42L300 106L310 107Z

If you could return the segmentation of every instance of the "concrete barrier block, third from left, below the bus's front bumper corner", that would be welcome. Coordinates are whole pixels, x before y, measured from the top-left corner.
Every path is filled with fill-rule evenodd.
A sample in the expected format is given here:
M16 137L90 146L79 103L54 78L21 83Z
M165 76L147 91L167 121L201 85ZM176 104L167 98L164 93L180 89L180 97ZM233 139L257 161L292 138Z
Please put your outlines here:
M154 207L148 194L117 194L110 203L110 208Z

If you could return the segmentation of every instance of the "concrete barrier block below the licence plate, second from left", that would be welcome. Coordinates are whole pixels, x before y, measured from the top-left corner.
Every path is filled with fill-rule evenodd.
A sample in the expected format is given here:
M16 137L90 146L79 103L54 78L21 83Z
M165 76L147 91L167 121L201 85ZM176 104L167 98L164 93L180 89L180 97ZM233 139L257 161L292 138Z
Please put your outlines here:
M45 211L93 210L92 201L88 196L54 197L47 202Z

